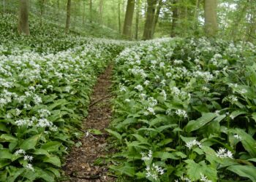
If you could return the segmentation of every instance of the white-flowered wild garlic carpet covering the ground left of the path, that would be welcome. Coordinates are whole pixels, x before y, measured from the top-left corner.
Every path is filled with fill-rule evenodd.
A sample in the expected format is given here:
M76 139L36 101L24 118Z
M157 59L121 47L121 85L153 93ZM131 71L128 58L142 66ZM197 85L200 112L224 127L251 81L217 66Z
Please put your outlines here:
M0 181L56 181L64 155L83 135L97 75L122 46L50 25L50 36L19 36L10 17L0 26Z

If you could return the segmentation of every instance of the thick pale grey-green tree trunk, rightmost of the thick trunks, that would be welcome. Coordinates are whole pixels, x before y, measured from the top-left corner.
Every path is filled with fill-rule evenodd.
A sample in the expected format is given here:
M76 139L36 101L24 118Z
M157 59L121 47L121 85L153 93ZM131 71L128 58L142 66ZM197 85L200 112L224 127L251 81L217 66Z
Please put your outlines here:
M204 1L205 32L207 36L215 36L218 31L217 0Z

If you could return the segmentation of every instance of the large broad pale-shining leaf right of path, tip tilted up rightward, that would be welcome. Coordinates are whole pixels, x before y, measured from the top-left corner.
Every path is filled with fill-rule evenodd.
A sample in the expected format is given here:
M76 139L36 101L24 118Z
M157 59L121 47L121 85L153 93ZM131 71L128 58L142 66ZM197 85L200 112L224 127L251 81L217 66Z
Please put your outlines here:
M187 124L185 129L187 132L192 132L192 131L198 130L200 127L203 127L208 122L211 122L211 120L214 119L216 116L217 115L214 113L203 114L203 116L201 116L197 120L189 121L189 123Z

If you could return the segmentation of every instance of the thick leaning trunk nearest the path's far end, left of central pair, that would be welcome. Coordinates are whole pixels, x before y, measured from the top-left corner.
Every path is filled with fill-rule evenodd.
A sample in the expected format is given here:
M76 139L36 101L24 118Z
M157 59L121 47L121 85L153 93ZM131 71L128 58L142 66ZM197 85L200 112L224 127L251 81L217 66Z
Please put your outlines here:
M135 9L135 0L128 0L127 11L125 13L125 18L124 18L123 35L129 38L131 38L132 36L132 19L133 19L134 9Z

